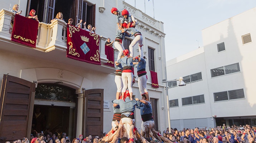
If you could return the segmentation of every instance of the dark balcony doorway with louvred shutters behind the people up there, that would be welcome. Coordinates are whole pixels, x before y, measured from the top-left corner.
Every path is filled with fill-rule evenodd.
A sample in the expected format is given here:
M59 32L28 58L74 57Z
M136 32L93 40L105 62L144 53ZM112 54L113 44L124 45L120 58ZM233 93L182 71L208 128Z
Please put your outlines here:
M64 20L74 20L73 25L79 23L82 19L86 25L95 26L95 4L83 0L28 0L26 15L34 9L38 20L43 23L50 23L57 13L63 14ZM83 26L83 25L82 25Z

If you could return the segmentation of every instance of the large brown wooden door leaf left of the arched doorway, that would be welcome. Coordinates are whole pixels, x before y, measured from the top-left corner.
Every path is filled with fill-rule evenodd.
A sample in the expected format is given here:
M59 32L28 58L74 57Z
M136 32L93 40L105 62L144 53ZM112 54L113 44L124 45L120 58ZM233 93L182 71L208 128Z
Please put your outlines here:
M35 84L4 74L0 95L0 138L30 137Z

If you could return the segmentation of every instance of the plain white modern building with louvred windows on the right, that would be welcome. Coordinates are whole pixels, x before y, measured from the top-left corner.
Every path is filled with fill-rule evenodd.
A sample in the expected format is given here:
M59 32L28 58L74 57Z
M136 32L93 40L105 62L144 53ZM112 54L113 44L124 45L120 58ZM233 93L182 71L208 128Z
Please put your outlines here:
M256 125L256 8L202 30L203 47L167 61L171 127Z

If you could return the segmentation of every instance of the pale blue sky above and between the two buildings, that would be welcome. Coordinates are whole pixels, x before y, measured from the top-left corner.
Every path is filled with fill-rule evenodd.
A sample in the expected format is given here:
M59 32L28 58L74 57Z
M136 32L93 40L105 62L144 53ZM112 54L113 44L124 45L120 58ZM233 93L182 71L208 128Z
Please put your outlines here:
M144 0L124 1L164 23L166 61L203 47L201 30L256 7L256 0L145 0L145 11Z

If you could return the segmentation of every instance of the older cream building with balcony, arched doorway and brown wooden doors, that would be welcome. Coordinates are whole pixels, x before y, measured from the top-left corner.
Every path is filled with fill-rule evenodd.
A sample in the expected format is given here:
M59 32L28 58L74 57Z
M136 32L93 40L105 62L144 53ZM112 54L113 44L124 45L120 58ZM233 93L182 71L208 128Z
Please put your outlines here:
M31 129L66 132L71 138L79 134L102 136L111 129L116 96L115 68L104 65L107 38L115 39L116 16L112 7L126 8L138 20L136 26L143 35L143 51L148 65L148 92L153 104L155 129L168 125L165 89L166 66L163 22L151 18L122 0L0 0L0 137L3 140L30 137ZM10 10L19 4L22 16L35 9L39 19L36 48L11 41ZM58 12L64 21L54 20ZM69 18L77 24L80 19L95 26L100 35L101 65L69 59L66 32ZM83 25L82 25L83 27ZM133 38L123 41L127 49ZM139 55L138 45L135 54ZM118 50L114 48L115 59ZM150 70L158 74L159 88L151 86ZM136 69L135 69L136 73ZM136 76L136 75L135 75ZM140 98L137 78L133 85L134 98ZM39 110L43 120L33 118ZM136 126L140 130L140 111L135 110Z

